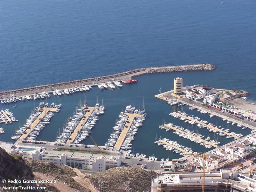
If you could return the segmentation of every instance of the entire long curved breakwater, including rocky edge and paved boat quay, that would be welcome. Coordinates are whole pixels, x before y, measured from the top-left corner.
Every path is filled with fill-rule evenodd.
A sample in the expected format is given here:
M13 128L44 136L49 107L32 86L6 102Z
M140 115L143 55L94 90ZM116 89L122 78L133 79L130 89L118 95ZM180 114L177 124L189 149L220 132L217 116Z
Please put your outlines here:
M151 73L166 73L166 72L178 72L178 71L195 71L195 70L214 70L217 67L211 64L193 64L193 65L176 65L176 66L165 66L165 67L151 67L151 68L139 68L122 73L117 73L108 76L100 76L93 78L86 78L74 81L61 82L56 84L45 84L40 86L26 87L14 90L1 91L0 95L3 99L6 99L10 94L15 94L16 97L22 97L26 95L34 95L35 92L47 92L52 93L52 89L63 90L68 87L81 87L81 84L87 84L90 86L95 86L96 81L109 81L115 79L117 81L126 81L132 77L151 74Z

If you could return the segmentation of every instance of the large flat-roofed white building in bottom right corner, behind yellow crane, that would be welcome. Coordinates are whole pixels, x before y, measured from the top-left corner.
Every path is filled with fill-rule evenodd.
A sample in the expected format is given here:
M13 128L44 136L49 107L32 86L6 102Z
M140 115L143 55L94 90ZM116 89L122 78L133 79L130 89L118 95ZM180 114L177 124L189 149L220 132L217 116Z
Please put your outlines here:
M151 180L151 192L182 192L201 191L202 172L174 172L157 174ZM229 169L220 169L219 172L205 172L205 191L233 191L254 192L256 180L246 177ZM230 190L231 191L231 190Z

